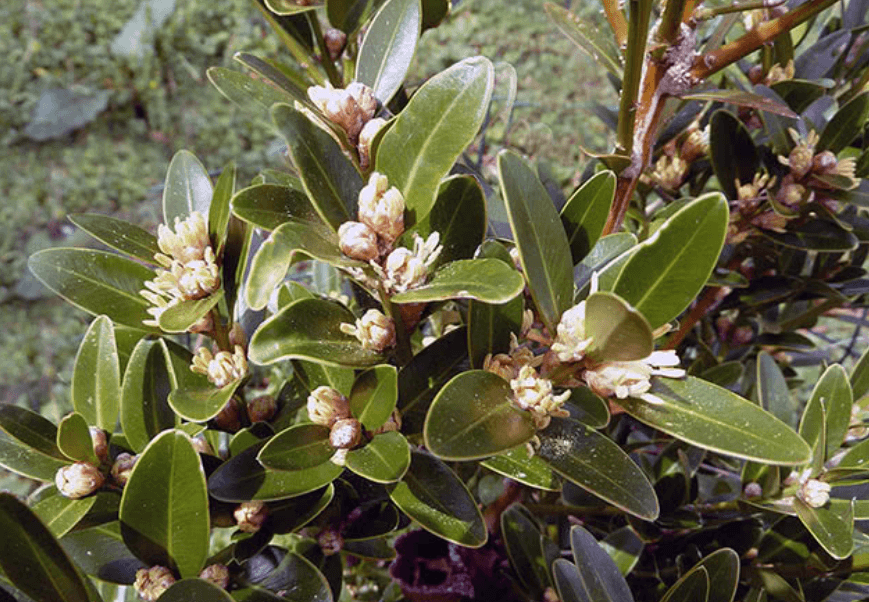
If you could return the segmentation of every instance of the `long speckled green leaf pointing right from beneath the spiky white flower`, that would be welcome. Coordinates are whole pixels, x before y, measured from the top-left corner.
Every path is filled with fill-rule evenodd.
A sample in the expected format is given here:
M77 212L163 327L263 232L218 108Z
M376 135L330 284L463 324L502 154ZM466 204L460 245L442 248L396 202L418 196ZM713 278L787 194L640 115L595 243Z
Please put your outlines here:
M660 403L620 399L637 420L677 439L721 454L793 466L811 450L790 427L756 404L693 376L653 378L649 391Z

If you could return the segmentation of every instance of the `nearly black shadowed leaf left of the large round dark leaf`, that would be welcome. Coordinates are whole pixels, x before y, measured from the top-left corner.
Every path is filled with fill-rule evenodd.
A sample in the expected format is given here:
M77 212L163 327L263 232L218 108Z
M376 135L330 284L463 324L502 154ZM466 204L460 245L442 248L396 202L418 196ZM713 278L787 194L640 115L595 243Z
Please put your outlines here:
M398 410L405 434L421 433L428 408L441 387L468 360L467 331L458 328L413 356L398 373Z

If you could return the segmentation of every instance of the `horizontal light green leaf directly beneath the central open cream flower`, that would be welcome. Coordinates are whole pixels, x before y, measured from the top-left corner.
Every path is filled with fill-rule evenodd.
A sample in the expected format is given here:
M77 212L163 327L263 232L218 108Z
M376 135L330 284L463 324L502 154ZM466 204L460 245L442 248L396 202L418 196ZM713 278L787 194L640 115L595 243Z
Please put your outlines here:
M498 259L462 259L434 273L427 284L398 293L394 303L425 303L448 299L476 299L506 303L522 292L522 275Z

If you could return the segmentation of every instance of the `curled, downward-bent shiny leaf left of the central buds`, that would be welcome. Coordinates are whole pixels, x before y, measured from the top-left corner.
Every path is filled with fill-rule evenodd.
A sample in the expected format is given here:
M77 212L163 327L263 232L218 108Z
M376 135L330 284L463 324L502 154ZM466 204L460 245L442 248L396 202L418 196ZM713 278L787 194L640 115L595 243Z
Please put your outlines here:
M247 280L248 305L253 309L266 306L272 292L280 285L296 259L296 253L336 267L365 266L341 253L338 237L325 226L287 222L272 232L253 257Z

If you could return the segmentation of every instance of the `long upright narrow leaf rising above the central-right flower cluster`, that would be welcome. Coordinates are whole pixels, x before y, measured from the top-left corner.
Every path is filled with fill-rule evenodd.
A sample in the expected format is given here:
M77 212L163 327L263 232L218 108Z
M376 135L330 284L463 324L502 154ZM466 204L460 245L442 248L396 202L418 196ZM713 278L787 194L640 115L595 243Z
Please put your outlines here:
M537 174L519 155L498 153L498 177L519 260L549 329L573 305L573 262L561 219Z

